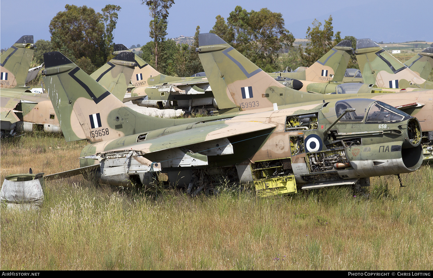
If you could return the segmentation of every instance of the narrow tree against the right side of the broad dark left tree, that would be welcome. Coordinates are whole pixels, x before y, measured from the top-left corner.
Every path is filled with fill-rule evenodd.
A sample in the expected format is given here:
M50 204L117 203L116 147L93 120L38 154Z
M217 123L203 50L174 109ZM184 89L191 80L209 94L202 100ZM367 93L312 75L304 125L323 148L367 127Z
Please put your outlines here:
M120 6L108 4L102 9L102 19L105 25L105 33L103 34L105 58L107 61L113 58L114 34L116 29L118 15L117 12L122 9Z

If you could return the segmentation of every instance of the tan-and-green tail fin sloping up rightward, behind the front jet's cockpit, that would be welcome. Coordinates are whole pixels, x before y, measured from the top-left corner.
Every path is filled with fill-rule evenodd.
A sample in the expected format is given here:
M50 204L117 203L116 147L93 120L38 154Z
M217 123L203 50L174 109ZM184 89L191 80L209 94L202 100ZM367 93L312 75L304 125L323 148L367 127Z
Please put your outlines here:
M352 42L343 40L305 70L305 80L342 82L352 54Z

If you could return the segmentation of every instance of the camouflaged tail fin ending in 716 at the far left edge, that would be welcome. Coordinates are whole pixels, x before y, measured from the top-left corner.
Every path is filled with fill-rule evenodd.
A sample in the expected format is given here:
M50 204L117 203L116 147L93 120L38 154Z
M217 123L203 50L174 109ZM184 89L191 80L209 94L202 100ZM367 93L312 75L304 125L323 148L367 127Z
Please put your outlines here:
M26 85L35 48L33 35L24 35L1 56L1 88Z

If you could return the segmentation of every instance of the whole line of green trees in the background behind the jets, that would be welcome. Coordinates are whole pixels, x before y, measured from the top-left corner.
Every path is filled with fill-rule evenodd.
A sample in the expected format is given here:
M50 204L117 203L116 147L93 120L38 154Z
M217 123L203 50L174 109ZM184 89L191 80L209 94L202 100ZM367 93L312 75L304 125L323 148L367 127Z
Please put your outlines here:
M166 39L168 16L174 0L140 0L147 6L151 20L149 37L152 41L141 46L142 59L161 73L179 77L191 76L203 71L195 48L198 47L200 26L196 27L192 45L176 44ZM36 42L34 63L42 64L43 53L61 51L86 73L92 73L113 58L114 36L120 6L107 5L101 12L87 6L65 5L50 22L51 40ZM281 13L267 8L247 11L236 6L225 20L216 16L215 25L209 31L220 36L237 51L249 58L266 72L282 70L286 66L308 67L341 41L340 32L333 32L332 16L322 23L316 19L308 27L306 47L294 47L292 33L284 28ZM351 39L352 46L356 38ZM132 45L131 48L140 47ZM285 54L287 53L287 54ZM355 56L349 67L357 67Z

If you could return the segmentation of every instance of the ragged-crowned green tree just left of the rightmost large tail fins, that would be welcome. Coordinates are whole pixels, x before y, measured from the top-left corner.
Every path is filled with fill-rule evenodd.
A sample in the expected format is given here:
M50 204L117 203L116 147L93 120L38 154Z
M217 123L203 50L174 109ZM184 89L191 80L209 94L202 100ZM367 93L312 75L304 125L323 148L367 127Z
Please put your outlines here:
M307 47L304 50L300 48L305 67L310 67L341 41L340 31L336 32L334 36L332 16L329 16L328 20L325 19L323 29L320 28L321 26L322 22L317 19L314 19L313 27L308 26L306 38L309 42L307 42Z

